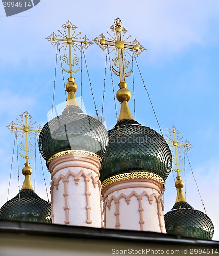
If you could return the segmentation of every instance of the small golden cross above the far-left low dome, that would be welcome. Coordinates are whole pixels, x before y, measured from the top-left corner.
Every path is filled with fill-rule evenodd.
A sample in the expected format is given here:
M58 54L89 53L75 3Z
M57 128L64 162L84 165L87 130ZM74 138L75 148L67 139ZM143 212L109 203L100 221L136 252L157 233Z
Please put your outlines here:
M23 156L20 152L20 156L26 159L26 163L28 163L28 159L32 158L34 156L34 154L32 156L28 156L28 152L33 150L33 144L31 143L31 141L29 141L28 143L28 137L29 139L31 139L31 137L34 137L35 133L40 133L40 125L38 125L37 127L33 125L36 124L36 122L31 123L31 121L29 121L28 123L28 119L31 119L32 116L29 115L29 113L27 111L23 112L20 117L22 118L21 121L18 120L18 118L16 119L18 121L18 123L14 123L13 121L6 127L8 127L8 129L12 132L12 134L14 134L15 131L17 131L17 137L21 135L21 138L23 138L23 135L25 135L25 144L23 141L21 141L21 143L19 144L21 150L23 150L25 152L25 156ZM23 117L25 118L25 122L23 122ZM15 126L17 125L17 126ZM35 128L35 129L34 129ZM28 145L29 144L29 145Z

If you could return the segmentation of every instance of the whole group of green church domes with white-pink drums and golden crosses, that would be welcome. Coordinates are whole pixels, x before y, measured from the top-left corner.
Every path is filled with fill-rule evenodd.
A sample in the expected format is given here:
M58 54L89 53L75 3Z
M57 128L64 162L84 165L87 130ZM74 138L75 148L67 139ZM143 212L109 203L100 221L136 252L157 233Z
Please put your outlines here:
M26 155L20 155L26 159L23 168L25 181L18 195L1 207L0 219L70 225L80 225L78 224L80 222L82 225L89 225L90 227L94 227L92 226L93 223L100 219L99 223L95 224L96 227L116 227L117 229L120 226L121 229L129 229L130 220L135 219L132 230L167 232L168 234L195 239L211 240L214 233L212 221L203 212L192 208L184 198L183 181L179 176L179 172L183 169L179 170L178 168L180 164L177 155L175 159L177 168L173 169L178 174L175 182L177 200L172 210L165 215L163 214L162 193L165 180L171 172L172 153L168 146L169 142L167 143L163 136L150 127L141 125L131 115L128 106L131 92L127 89L125 77L131 75L132 69L125 72L124 63L128 67L129 61L123 58L123 49L128 46L127 49L134 50L134 54L138 56L145 48L136 39L132 42L133 45L129 45L128 42L124 44L126 40L123 41L121 33L128 31L121 27L119 18L115 19L114 23L115 25L110 27L113 32L116 31L114 33L116 37L112 37L113 40L109 38L105 40L106 37L101 34L99 36L101 39L99 40L97 37L94 42L100 43L102 50L108 46L113 46L118 54L116 59L118 59L117 68L119 71L112 67L112 71L120 77L120 89L117 91L116 97L121 103L121 109L117 124L107 131L103 123L85 114L78 106L75 96L77 84L75 78L72 77L72 74L79 70L72 70L74 59L76 59L77 64L78 58L75 57L73 62L71 59L71 46L74 46L75 32L70 36L70 29L74 30L77 27L68 20L62 26L68 29L68 35L67 33L62 34L64 39L61 39L65 42L66 48L69 46L69 59L66 54L62 57L62 59L68 60L70 69L68 71L62 67L64 71L70 74L66 84L66 91L68 92L66 107L61 115L48 121L41 131L40 126L37 130L29 129L31 125L27 126L27 118L32 117L27 111L24 113L26 121L25 124L22 122L22 129L23 133L26 133L26 146L23 144L22 148ZM53 46L59 40L55 36L53 33L47 38ZM76 48L78 48L79 42L81 47L84 44L85 49L92 44L86 36L83 39L84 41L78 41L78 39L75 41ZM114 63L116 63L116 59L113 59ZM13 123L11 129L15 128ZM174 140L172 145L177 151L176 147L179 140L176 140L175 136L178 131L175 130L174 126L173 128ZM51 172L51 204L38 197L31 185L32 169L28 159L33 155L28 156L27 147L27 133L30 131L39 133L39 150ZM30 134L29 137L31 138ZM179 145L182 146L180 143ZM30 146L33 145L30 144ZM190 144L186 143L184 146L188 148ZM82 151L86 155L83 159L81 157ZM62 154L58 154L61 152L64 155L70 152L73 156L62 157ZM175 152L175 154L177 153ZM87 155L91 155L91 157L87 157ZM54 158L57 158L57 161L54 160L52 164L49 164ZM139 173L143 173L144 177L132 181L132 177L137 177L137 179L140 177ZM119 175L123 178L126 176L125 185L120 186L123 182L117 179ZM131 199L132 196L136 201ZM119 201L120 199L121 201ZM110 208L112 208L111 211ZM83 210L84 212L86 210L86 214L82 212ZM108 215L106 210L108 210ZM52 216L51 212L53 212ZM111 220L110 225L112 226L106 225L109 220ZM151 222L150 225L148 225L149 222ZM128 225L125 226L127 223Z

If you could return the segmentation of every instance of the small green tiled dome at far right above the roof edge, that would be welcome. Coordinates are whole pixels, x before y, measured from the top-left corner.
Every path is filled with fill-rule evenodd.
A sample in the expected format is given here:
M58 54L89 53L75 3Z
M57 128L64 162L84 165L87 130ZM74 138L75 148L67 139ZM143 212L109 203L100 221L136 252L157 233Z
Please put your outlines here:
M202 211L195 210L187 202L175 203L164 215L166 232L184 237L211 240L214 225Z

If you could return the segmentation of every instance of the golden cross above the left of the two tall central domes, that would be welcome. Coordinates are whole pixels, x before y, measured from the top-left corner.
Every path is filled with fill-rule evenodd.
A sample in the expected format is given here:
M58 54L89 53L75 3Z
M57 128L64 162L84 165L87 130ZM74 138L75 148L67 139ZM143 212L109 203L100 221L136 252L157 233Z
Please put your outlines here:
M51 44L53 46L55 46L57 44L56 41L61 41L61 43L59 45L61 45L61 47L59 48L59 50L65 47L68 47L68 53L69 56L67 57L67 54L64 54L64 56L62 57L62 60L64 61L64 63L67 63L67 65L69 66L69 70L64 69L63 70L65 72L68 72L70 74L70 77L72 77L73 73L76 73L79 71L80 68L78 68L77 70L72 70L72 66L77 65L79 58L76 56L76 54L74 54L74 58L72 58L71 55L71 47L73 48L74 51L76 51L76 48L81 52L81 49L79 48L80 45L84 44L84 48L87 49L90 45L92 45L93 43L86 37L84 36L82 39L84 39L84 41L81 41L79 39L81 39L81 37L78 37L81 32L79 32L77 35L75 35L75 31L71 34L71 29L75 30L77 27L75 25L73 25L70 20L68 20L65 24L63 24L61 27L63 27L64 29L68 29L68 34L66 33L66 31L64 30L64 33L62 33L60 30L58 30L59 33L61 33L62 35L58 35L60 36L60 38L56 38L56 34L53 32L53 34L51 34L50 36L48 36L46 39L48 41L51 42Z

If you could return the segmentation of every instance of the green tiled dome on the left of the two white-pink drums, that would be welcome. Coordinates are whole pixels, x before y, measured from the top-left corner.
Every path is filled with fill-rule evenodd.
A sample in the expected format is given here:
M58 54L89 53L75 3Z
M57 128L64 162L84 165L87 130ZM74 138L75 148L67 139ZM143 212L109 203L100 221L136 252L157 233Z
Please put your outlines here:
M69 106L60 116L43 127L39 136L39 148L47 161L64 150L86 150L103 158L108 144L104 125L88 116L78 106Z

